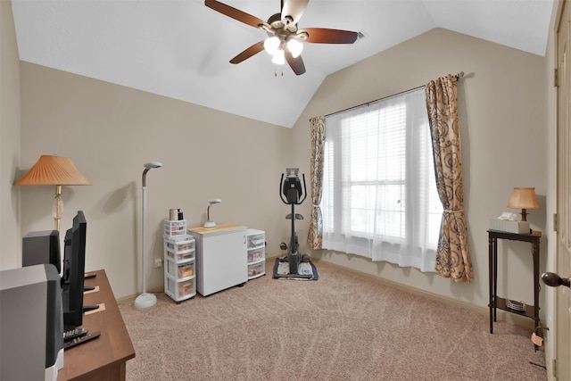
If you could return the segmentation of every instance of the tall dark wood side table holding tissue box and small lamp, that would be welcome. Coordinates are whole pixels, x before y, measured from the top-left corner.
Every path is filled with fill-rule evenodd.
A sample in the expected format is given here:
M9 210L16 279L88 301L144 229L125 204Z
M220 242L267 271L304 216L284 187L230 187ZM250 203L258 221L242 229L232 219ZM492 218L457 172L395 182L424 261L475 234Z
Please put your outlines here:
M535 328L539 326L539 240L541 231L533 230L531 234L507 233L499 230L488 230L489 269L490 269L490 333L493 334L493 322L496 321L496 310L509 311L526 318L534 319ZM534 305L525 305L524 311L509 308L508 299L498 296L498 239L523 241L532 244L534 260Z

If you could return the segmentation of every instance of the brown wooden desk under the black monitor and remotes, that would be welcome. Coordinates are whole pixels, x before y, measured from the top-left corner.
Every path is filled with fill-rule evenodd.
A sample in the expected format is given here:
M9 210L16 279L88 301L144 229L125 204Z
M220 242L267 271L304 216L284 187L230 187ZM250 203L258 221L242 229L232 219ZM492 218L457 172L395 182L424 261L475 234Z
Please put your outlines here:
M65 350L58 381L125 379L127 360L135 358L135 349L105 271L89 272L95 272L96 277L86 279L85 286L98 286L99 290L84 294L83 303L104 303L104 310L100 307L87 312L82 327L89 332L101 331L101 335Z

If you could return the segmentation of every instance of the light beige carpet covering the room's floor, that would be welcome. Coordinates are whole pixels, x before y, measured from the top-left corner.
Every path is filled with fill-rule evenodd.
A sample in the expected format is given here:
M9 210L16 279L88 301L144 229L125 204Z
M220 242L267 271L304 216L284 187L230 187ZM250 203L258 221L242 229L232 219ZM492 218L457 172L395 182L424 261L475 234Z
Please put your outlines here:
M128 380L545 380L530 332L317 262L177 304L120 304ZM453 285L452 285L453 286Z

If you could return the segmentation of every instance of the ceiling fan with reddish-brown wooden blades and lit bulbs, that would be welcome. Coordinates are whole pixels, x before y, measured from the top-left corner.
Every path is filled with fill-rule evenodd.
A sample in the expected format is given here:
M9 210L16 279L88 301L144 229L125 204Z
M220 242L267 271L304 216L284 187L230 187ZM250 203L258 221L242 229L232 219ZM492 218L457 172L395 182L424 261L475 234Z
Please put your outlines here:
M244 24L254 28L262 29L268 34L265 40L248 47L231 59L230 63L243 62L265 49L269 54L273 55L272 62L284 64L287 61L294 73L301 75L305 72L305 65L300 55L303 49L302 41L314 44L352 44L359 36L358 32L349 30L298 29L297 21L302 18L302 14L309 2L310 0L281 0L281 12L269 16L268 21L263 21L249 13L216 0L205 0L204 4L214 11L244 22Z

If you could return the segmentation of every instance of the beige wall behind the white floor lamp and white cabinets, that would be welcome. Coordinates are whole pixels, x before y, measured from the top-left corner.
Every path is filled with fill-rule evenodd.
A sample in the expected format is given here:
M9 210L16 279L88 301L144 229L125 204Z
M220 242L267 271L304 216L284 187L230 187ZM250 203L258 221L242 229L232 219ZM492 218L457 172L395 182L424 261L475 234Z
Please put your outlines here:
M202 225L211 198L219 223L267 231L268 253L284 241L287 207L277 189L291 130L159 95L21 62L21 169L42 153L70 156L93 186L63 186L62 230L87 218L88 269L105 269L115 296L141 282L141 175L147 185L147 288L162 286L162 221L181 208ZM21 232L51 228L54 189L21 189Z

